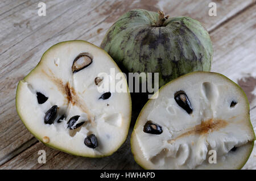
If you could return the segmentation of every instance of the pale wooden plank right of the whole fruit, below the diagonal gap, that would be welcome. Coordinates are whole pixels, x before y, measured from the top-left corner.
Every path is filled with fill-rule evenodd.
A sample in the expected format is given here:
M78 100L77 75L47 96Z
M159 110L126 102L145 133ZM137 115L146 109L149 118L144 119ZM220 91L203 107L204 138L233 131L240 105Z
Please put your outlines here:
M226 75L246 92L256 106L256 5L210 34L213 41L212 71Z

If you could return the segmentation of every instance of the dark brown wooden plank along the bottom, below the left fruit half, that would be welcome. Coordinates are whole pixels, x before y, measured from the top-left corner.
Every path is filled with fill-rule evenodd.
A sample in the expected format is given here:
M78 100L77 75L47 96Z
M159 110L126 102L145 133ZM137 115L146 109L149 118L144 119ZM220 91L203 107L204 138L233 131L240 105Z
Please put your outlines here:
M130 140L130 136L127 140ZM46 164L38 163L39 150L46 151ZM113 155L105 158L76 157L38 142L2 165L0 169L141 169L141 167L134 162L129 141L126 141Z

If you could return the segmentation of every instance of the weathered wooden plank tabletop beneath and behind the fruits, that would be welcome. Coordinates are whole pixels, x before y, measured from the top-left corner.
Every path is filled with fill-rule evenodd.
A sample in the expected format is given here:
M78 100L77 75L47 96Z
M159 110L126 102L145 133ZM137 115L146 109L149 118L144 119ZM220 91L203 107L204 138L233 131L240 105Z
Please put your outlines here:
M16 85L45 50L73 39L100 45L113 22L134 8L190 16L207 28L214 48L212 71L225 74L245 90L256 131L255 1L216 1L217 16L208 15L211 1L204 0L43 2L46 16L38 16L37 1L0 2L0 169L140 169L130 151L130 134L110 157L74 157L38 142L15 110ZM47 153L46 164L38 163L38 150L42 149ZM256 169L256 148L244 169Z

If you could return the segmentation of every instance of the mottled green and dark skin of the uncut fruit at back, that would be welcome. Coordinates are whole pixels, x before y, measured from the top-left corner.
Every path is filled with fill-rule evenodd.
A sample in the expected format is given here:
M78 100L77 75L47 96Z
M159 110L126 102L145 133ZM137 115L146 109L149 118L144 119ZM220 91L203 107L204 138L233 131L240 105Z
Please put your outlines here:
M142 9L127 12L110 27L101 48L125 72L159 73L159 86L192 71L209 71L213 49L204 27L185 16L156 27L158 18Z

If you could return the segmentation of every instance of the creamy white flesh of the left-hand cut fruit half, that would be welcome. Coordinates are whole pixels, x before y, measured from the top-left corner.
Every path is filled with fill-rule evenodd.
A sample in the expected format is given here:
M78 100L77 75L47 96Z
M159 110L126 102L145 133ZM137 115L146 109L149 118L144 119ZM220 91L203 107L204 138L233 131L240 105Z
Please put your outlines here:
M72 72L72 64L80 53L89 53L93 62L88 67ZM81 59L81 58L80 58ZM77 61L77 65L81 62ZM110 75L110 69L115 74ZM94 79L99 73L109 75L109 81L122 82L126 92L112 92L109 99L99 99L104 92L98 91ZM28 130L40 141L65 152L85 157L102 157L112 154L127 137L131 116L130 93L126 79L116 80L121 73L112 58L102 49L86 41L65 41L49 48L30 74L19 82L16 94L16 110ZM103 79L102 81L105 81ZM36 92L48 100L39 104ZM57 118L53 124L45 124L44 116L57 105ZM65 119L57 119L65 114ZM76 124L85 123L74 130L67 128L72 116L79 115ZM98 140L95 149L84 144L86 136L94 134Z

